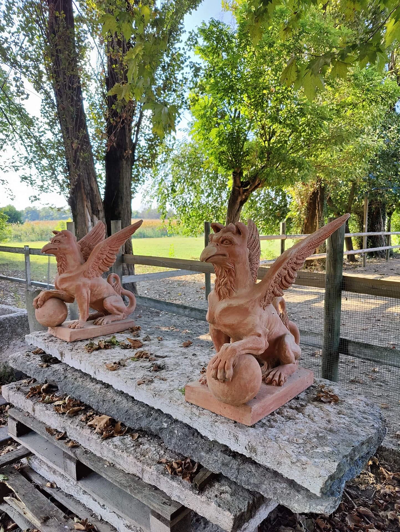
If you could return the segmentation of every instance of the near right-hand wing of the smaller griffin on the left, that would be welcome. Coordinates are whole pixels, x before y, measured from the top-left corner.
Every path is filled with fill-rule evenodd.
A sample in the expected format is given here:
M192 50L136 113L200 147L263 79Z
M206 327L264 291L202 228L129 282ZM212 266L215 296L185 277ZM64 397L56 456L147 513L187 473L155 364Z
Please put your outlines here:
M121 229L97 244L86 261L84 276L88 279L101 277L102 273L109 270L116 260L119 248L139 229L143 220Z

